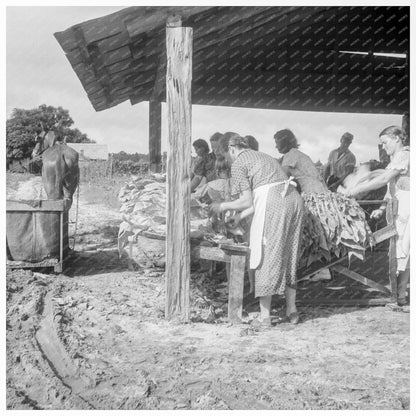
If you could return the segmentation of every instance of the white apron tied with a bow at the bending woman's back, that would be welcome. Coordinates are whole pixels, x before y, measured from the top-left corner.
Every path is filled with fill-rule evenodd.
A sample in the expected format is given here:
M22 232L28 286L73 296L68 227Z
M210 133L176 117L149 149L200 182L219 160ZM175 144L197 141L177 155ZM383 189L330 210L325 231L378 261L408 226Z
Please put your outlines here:
M284 184L285 187L281 192L282 197L284 197L289 189L289 185L296 186L296 182L293 179L291 176L285 181L259 186L253 191L254 215L250 227L250 269L256 269L259 266L263 254L263 244L265 243L263 230L269 190L274 186Z

